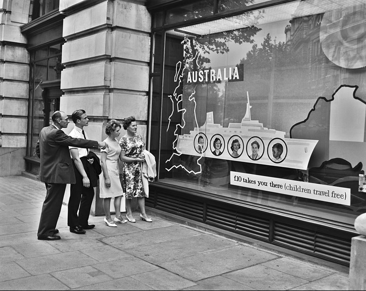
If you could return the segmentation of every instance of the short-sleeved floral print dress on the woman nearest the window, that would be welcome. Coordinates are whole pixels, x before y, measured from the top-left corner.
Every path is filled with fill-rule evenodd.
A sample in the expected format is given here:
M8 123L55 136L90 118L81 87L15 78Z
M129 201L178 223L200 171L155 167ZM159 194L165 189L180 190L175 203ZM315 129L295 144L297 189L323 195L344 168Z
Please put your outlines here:
M122 136L119 145L126 152L126 157L138 158L144 150L145 142L140 134L135 134L133 137ZM126 199L145 197L140 162L123 163L122 188Z

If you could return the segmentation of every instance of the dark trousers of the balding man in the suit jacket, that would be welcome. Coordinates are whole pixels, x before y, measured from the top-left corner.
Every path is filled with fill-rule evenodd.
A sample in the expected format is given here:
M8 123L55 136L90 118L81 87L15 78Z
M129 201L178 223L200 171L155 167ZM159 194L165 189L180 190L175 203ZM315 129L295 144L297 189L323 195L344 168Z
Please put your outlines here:
M38 237L54 234L66 189L66 184L44 184L46 186L47 193L43 202L42 212L40 214L37 232Z

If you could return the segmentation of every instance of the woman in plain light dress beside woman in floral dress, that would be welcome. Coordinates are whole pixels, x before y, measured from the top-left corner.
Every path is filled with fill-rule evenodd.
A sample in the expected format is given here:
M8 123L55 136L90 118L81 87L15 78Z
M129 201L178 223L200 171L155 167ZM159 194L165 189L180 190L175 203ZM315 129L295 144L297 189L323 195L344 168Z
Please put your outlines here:
M117 227L115 222L126 223L122 219L121 210L125 212L125 200L123 189L119 179L118 158L121 158L121 147L118 144L117 137L121 124L115 119L111 119L106 126L108 137L104 140L108 143L108 148L101 150L102 173L100 175L100 198L103 198L103 208L106 214L104 222L111 227ZM114 198L115 218L112 220L110 206L111 198ZM123 199L122 199L123 198Z

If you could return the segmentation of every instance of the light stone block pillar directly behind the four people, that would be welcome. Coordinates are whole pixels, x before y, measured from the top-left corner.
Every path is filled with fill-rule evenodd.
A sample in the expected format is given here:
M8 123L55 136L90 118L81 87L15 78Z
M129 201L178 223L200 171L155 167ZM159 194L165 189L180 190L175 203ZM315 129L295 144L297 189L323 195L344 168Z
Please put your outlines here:
M85 131L97 140L107 137L108 120L133 115L146 140L151 16L145 1L61 0L59 10L67 15L60 109L68 115L84 109L93 124ZM92 208L103 214L98 188Z

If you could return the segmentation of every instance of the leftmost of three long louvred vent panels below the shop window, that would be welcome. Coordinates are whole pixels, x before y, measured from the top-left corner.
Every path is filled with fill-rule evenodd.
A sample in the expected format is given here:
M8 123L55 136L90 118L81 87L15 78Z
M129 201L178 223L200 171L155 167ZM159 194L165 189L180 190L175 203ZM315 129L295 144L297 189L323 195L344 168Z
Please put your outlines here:
M203 204L194 200L159 193L156 208L199 221L203 220Z

